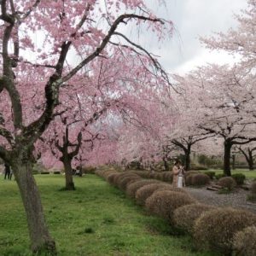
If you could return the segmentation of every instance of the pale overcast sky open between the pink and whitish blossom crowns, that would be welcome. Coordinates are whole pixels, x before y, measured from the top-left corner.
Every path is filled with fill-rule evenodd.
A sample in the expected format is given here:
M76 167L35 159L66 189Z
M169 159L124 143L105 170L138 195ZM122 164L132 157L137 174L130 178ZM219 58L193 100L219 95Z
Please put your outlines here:
M152 1L152 8L156 9ZM167 9L159 9L158 15L172 20L176 28L172 40L155 48L155 42L147 42L150 49L161 56L161 63L170 73L187 73L207 62L224 64L232 59L224 53L209 52L201 45L199 36L212 32L226 32L236 27L234 14L247 7L246 0L166 0Z

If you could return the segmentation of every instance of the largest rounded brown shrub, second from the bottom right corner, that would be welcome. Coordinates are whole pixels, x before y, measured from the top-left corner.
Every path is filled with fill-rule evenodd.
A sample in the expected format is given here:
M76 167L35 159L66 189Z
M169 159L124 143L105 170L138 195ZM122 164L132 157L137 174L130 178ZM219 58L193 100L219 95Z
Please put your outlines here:
M195 245L201 249L230 255L236 232L255 224L256 215L245 210L228 207L204 212L195 221Z

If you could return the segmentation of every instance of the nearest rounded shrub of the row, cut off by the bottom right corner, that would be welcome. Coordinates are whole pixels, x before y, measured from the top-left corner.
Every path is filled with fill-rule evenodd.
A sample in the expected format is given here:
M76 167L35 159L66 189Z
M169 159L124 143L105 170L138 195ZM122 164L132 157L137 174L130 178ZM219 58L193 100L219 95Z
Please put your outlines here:
M236 233L233 240L235 255L256 255L256 226L247 227Z

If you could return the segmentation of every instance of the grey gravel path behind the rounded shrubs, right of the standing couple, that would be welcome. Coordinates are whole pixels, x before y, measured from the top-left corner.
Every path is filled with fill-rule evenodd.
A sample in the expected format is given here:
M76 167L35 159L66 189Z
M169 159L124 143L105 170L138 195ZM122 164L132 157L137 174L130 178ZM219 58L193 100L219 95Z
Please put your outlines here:
M187 187L184 189L186 189L195 199L207 205L244 208L256 213L256 203L247 201L249 192L246 190L237 189L236 192L230 194L218 194L217 192L207 190L206 188L194 189Z

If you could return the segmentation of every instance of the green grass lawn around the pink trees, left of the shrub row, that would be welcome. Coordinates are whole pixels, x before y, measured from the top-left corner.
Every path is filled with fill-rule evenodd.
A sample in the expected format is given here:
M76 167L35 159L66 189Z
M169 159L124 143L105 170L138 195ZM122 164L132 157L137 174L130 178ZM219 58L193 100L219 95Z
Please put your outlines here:
M193 250L189 236L141 207L100 177L75 177L75 191L60 191L61 175L36 175L58 255L214 255ZM25 213L15 181L0 176L0 255L30 255Z

